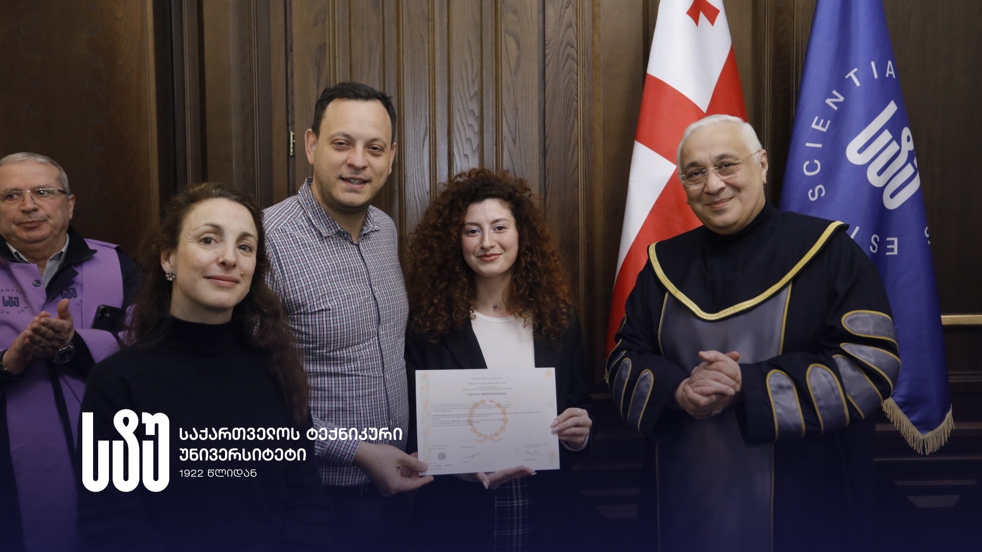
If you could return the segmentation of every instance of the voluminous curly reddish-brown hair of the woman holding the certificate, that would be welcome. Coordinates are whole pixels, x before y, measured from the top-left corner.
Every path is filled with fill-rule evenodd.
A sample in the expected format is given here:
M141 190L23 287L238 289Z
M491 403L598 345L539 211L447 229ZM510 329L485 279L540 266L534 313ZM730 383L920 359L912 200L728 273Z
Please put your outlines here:
M549 227L525 181L508 172L455 175L427 207L409 242L409 327L437 342L470 319L476 290L464 261L467 207L485 199L508 204L518 226L518 257L505 301L532 323L536 337L558 341L570 323L570 285Z

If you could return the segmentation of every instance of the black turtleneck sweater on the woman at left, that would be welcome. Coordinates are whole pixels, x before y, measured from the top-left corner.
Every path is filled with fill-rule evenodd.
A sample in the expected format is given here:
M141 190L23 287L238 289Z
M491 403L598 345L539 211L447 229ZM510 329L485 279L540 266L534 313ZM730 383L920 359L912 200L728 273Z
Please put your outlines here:
M170 482L159 492L148 491L142 477L130 492L117 490L112 480L99 492L80 485L79 524L86 548L323 548L329 507L305 436L309 423L293 422L279 384L248 347L240 327L236 320L212 325L172 317L161 343L130 347L92 369L82 413L93 414L94 441L122 439L113 426L120 410L163 413L170 420L171 454ZM296 427L300 440L181 439L182 429L268 427ZM140 423L136 438L156 443L143 429ZM306 461L182 462L183 448L304 449ZM255 476L220 477L209 469L254 470ZM112 468L109 473L112 477Z

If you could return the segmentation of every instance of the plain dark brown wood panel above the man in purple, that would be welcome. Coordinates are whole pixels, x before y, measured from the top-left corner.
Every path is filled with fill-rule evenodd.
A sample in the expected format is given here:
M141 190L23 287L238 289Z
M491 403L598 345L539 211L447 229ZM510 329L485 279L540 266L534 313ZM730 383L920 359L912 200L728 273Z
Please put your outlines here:
M73 225L135 252L158 203L152 3L4 2L0 157L42 153L68 174Z

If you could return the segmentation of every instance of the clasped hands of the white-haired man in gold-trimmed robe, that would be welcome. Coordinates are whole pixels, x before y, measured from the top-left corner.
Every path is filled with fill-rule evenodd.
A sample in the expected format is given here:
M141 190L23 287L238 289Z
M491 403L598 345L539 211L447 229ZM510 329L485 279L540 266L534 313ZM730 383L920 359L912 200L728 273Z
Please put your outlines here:
M675 400L695 419L705 419L733 406L739 398L739 353L724 355L719 351L700 351L702 360L691 375L676 388Z

